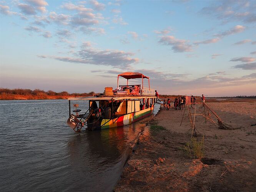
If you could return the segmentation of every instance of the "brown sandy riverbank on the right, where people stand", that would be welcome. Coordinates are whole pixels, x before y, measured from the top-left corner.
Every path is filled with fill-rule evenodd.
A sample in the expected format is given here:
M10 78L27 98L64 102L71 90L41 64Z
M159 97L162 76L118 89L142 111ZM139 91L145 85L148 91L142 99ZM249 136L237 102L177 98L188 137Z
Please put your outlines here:
M141 137L115 191L255 191L256 126L251 125L256 123L256 101L208 104L224 122L239 128L217 129L196 117L208 159L190 159L184 152L191 130L187 117L180 126L183 111L161 110L154 121L165 130L149 131L161 144ZM196 108L202 109L201 104Z

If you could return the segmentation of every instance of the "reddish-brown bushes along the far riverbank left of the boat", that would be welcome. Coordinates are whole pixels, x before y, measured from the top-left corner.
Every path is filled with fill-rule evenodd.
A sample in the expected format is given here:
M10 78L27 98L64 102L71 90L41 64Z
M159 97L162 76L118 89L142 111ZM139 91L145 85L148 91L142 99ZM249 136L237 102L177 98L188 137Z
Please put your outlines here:
M33 96L93 96L95 93L91 91L90 93L68 93L67 91L55 92L52 90L44 91L41 89L8 89L8 88L0 88L0 95L6 94L15 94L15 95L33 95Z

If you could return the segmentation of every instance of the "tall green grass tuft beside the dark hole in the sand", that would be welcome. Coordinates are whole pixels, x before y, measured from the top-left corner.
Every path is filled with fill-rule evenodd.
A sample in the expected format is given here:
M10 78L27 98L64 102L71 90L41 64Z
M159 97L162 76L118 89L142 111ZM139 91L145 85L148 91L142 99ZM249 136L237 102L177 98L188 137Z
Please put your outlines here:
M186 143L184 146L184 152L190 159L201 159L204 157L204 136L201 141L197 141L196 138L191 138L191 142Z

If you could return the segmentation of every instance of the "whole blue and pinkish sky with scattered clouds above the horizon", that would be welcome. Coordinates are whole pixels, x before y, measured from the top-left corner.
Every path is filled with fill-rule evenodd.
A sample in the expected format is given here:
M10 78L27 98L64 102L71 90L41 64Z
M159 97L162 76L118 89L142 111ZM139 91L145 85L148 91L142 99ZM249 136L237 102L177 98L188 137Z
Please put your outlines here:
M134 71L159 94L256 95L256 1L5 0L0 12L2 88L103 93Z

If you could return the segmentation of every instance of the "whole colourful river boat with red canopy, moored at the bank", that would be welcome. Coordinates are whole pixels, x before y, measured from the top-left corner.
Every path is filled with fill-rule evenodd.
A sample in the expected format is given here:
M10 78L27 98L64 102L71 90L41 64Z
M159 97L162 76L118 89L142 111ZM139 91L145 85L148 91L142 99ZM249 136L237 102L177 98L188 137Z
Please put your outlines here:
M119 85L119 77L127 79L126 85ZM141 78L141 84L128 84L129 79ZM143 79L148 79L148 88ZM115 92L115 93L114 93ZM138 72L118 74L117 88L105 88L105 95L96 97L73 97L69 101L67 124L76 132L124 126L153 114L156 103L155 89L150 88L150 78ZM88 101L88 110L81 113L78 104L71 114L71 101Z

